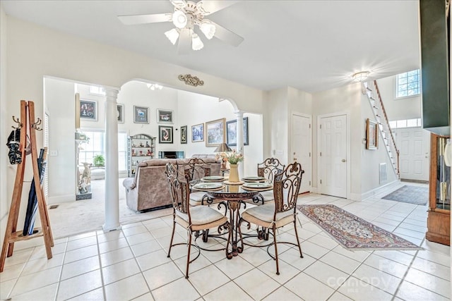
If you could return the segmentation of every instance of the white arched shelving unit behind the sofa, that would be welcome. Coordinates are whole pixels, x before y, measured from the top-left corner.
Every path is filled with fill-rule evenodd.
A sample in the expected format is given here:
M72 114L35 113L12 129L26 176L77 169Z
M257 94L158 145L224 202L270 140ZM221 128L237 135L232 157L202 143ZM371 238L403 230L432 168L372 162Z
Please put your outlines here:
M137 134L128 139L128 164L129 177L135 175L138 163L144 160L153 159L155 156L155 137L146 134Z

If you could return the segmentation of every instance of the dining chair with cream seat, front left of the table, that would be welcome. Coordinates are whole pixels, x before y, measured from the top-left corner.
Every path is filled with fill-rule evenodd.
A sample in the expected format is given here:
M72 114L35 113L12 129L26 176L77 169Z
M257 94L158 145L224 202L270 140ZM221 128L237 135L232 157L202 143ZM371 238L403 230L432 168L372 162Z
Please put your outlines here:
M197 235L200 231L205 233L210 228L217 228L218 234L220 235L229 233L226 247L208 249L208 251L225 250L225 255L227 256L232 228L227 217L215 209L208 206L190 206L189 177L185 175L182 180L175 164L168 163L165 173L167 174L173 206L173 227L167 257L170 257L171 249L175 245L187 245L185 278L189 278L189 264L194 262L201 254L201 247L196 244L196 238L193 239L193 235ZM173 244L176 224L186 229L188 235L187 242ZM196 254L194 259L191 259L192 246L198 250L198 254Z

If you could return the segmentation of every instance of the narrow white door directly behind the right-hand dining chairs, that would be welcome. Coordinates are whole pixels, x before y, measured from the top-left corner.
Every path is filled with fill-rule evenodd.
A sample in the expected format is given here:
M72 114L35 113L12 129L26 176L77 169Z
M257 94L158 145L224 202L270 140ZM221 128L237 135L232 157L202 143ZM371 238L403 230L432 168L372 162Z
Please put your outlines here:
M292 114L292 160L302 164L304 170L299 192L311 191L311 116Z

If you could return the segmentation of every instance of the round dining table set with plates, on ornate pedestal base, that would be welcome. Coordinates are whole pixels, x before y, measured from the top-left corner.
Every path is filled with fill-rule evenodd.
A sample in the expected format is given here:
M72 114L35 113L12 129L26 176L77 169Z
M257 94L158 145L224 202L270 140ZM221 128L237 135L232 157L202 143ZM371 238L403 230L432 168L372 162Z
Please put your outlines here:
M217 181L215 181L217 180ZM273 185L262 181L229 182L222 177L204 177L201 183L192 185L191 189L206 192L203 199L210 204L214 199L225 202L229 209L229 221L232 226L231 245L232 252L227 252L227 259L231 259L243 252L243 241L239 238L238 227L240 220L239 209L244 199L259 197L259 192L273 189Z

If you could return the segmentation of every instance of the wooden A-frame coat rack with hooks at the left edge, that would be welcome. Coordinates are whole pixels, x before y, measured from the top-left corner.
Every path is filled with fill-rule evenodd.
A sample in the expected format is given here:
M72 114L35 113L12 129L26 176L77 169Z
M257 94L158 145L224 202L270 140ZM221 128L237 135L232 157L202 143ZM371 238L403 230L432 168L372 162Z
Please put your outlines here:
M44 192L42 191L40 183L40 171L37 165L37 148L36 148L36 130L41 130L37 127L42 122L40 118L35 121L35 104L33 102L20 101L20 120L13 120L18 123L20 130L19 151L22 156L22 161L17 166L16 181L14 183L13 197L11 199L11 208L8 215L8 223L6 225L5 238L3 247L1 249L0 257L0 272L4 270L6 257L13 255L14 242L21 240L30 240L44 236L44 245L47 253L47 259L52 258L52 249L54 246L54 239L52 237L52 229L49 223L49 213L45 203ZM35 182L35 190L37 196L37 209L40 212L41 228L35 228L33 234L23 235L23 231L17 231L17 223L20 209L20 197L23 190L23 176L25 173L26 153L25 146L27 143L27 130L30 133L30 148L31 161L33 169L33 180Z

